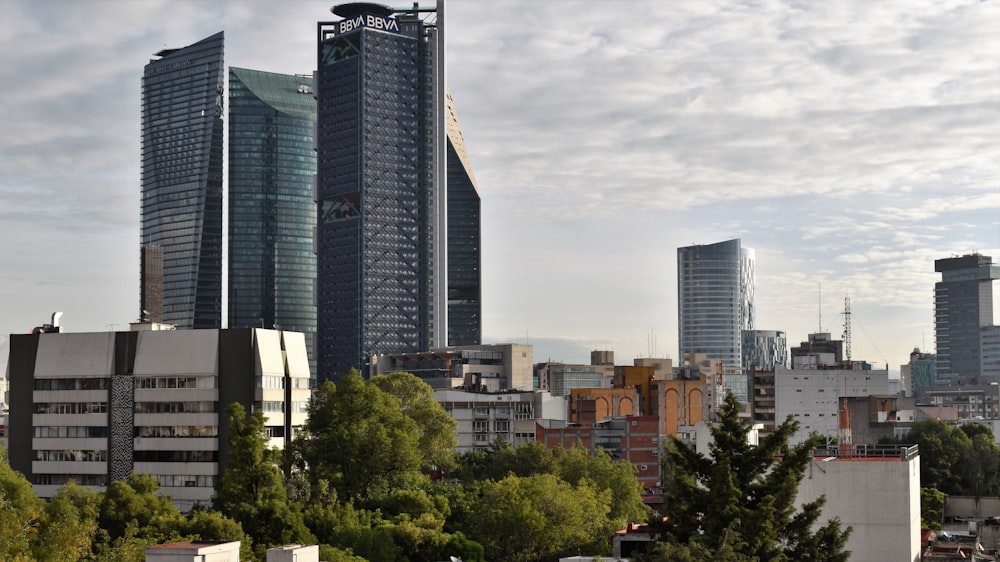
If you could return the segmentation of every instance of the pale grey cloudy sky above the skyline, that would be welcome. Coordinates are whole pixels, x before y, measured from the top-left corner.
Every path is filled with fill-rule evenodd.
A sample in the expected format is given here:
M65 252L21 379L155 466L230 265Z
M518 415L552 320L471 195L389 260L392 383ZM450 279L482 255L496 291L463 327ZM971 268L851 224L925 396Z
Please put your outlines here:
M54 311L68 331L138 317L153 53L223 30L227 65L310 74L331 5L4 4L0 367ZM896 373L934 349L934 260L1000 262L997 0L448 0L444 19L484 342L676 364L676 249L738 237L758 329L839 336L849 298L852 358Z

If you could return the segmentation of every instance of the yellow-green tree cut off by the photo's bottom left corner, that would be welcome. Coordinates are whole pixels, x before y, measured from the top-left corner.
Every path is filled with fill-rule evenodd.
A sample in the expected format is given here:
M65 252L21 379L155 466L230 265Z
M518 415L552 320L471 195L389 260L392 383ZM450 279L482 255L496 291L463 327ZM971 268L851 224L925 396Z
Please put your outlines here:
M44 504L6 458L0 447L0 560L30 562Z

